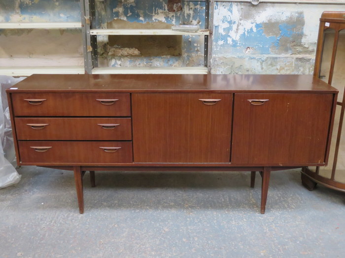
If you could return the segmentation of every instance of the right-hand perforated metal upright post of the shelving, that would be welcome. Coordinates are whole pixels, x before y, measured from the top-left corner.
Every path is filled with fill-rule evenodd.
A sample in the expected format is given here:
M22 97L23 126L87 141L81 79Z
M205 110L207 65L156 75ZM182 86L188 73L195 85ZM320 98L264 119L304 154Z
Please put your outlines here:
M205 29L209 30L209 34L205 35L205 40L204 40L204 66L207 67L208 73L211 73L213 13L214 13L214 0L206 0L205 1Z

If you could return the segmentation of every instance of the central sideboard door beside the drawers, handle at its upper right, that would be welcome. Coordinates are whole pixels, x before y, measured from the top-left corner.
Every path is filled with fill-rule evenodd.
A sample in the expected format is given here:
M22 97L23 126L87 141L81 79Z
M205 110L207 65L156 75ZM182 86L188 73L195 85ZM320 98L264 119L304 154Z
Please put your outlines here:
M231 115L232 94L133 94L134 162L229 163Z

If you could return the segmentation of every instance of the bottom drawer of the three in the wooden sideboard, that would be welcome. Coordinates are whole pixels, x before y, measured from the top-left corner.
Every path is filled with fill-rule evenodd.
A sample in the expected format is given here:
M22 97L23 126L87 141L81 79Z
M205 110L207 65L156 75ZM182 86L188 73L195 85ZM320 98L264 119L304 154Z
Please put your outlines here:
M22 163L132 163L132 142L19 141Z

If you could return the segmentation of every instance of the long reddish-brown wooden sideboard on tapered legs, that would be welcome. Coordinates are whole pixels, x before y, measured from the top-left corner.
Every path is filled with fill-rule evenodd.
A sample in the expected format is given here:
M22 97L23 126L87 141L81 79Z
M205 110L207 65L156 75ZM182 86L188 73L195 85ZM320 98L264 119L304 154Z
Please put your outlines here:
M271 171L325 166L338 90L311 75L33 75L7 90L19 166Z

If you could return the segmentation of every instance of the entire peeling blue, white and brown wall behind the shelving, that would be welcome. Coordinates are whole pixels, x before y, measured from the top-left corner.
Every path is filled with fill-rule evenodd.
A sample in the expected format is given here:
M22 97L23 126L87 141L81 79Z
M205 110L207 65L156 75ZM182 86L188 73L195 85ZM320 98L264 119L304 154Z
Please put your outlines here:
M79 0L1 0L0 22L77 22L79 4ZM98 28L114 28L119 21L126 28L128 24L205 27L204 1L96 0L96 8ZM212 73L311 74L319 17L325 10L345 11L345 5L217 1ZM98 42L101 66L203 66L203 36L182 36L176 43L181 44L180 54L168 51L164 56L152 46L149 55L124 43L112 49L108 36L98 36ZM0 58L0 65L82 65L81 31L0 30Z

